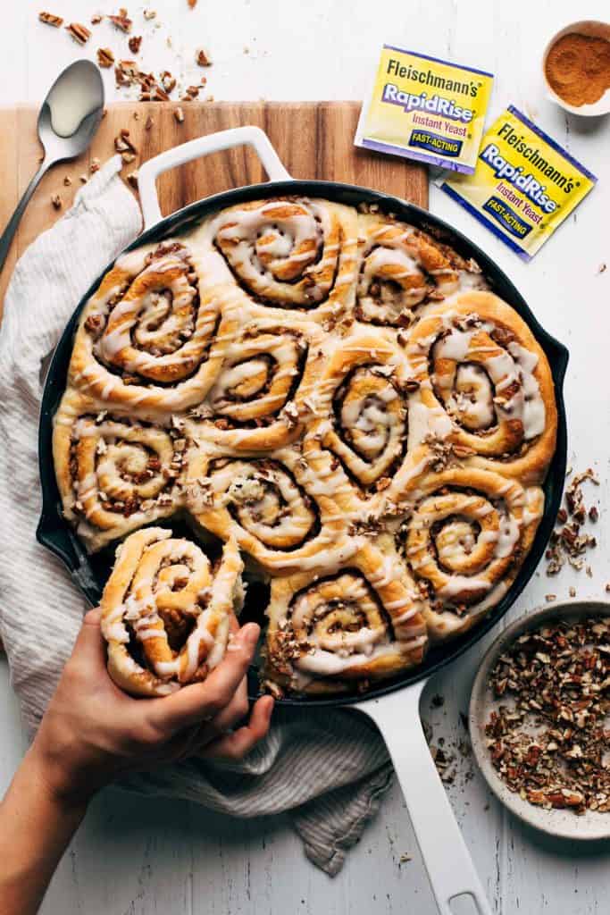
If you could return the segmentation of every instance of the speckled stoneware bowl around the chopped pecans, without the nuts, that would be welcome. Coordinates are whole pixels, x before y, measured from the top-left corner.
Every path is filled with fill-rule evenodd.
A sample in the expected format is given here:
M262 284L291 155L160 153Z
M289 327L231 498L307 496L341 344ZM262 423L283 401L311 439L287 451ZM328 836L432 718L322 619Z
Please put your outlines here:
M570 810L543 810L519 797L519 794L508 791L491 762L489 750L485 745L485 724L489 713L499 705L491 688L487 685L498 656L506 651L509 645L523 632L538 629L543 623L556 619L577 619L578 617L608 617L610 603L599 600L573 600L554 604L527 613L507 627L491 645L476 673L470 697L468 727L470 739L479 769L485 776L487 784L511 813L514 813L543 832L565 839L610 839L610 813L587 811L579 816Z

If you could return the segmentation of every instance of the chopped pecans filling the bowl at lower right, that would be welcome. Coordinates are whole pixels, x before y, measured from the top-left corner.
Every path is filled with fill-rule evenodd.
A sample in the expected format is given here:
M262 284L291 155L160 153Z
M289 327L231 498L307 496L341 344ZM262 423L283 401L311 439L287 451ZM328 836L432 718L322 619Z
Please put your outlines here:
M530 803L610 812L609 637L607 618L560 620L498 658L489 685L503 704L487 721L487 748L508 789Z

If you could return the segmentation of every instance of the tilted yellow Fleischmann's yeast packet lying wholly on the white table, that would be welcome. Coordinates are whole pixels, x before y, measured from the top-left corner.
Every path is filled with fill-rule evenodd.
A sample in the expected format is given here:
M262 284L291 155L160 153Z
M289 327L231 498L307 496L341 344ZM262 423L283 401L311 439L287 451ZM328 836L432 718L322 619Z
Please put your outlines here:
M596 180L510 105L487 131L475 174L441 188L529 261Z

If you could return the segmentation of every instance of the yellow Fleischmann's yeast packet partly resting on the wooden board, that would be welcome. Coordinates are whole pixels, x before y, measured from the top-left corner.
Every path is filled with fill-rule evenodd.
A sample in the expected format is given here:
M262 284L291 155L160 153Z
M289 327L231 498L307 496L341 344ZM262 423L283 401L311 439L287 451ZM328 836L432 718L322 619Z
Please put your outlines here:
M355 144L470 175L491 73L384 45Z

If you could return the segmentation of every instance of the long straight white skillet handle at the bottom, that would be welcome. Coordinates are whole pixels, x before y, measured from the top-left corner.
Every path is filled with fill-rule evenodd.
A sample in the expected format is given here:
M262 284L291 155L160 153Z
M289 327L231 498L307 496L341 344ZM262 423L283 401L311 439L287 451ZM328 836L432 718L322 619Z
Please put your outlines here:
M425 682L359 702L380 728L401 783L417 843L441 915L492 915L483 887L423 734L419 705ZM452 910L451 900L460 899Z

